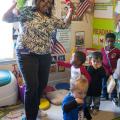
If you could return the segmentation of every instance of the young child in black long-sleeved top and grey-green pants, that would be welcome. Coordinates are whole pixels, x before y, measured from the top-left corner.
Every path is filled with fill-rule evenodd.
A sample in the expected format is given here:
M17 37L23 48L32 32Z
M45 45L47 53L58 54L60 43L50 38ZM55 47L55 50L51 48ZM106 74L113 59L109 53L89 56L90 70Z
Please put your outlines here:
M91 53L90 66L88 72L91 75L91 82L86 96L86 106L90 110L93 103L93 114L97 114L100 107L100 96L102 90L102 78L105 76L105 70L102 66L101 52Z

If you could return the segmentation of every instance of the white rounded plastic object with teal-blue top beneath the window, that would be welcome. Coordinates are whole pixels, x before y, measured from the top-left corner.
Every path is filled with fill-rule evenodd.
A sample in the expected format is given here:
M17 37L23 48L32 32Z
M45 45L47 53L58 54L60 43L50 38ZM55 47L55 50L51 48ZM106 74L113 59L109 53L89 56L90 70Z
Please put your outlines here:
M18 86L13 73L0 70L0 106L12 105L17 102Z

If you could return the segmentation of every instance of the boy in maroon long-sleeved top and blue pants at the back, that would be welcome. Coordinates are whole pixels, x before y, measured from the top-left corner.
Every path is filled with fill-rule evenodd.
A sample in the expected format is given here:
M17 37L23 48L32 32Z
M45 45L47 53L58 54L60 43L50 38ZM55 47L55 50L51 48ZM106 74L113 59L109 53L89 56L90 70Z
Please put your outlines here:
M103 66L106 71L106 77L103 80L102 98L108 99L106 83L109 76L113 74L116 68L117 60L118 58L120 58L120 50L118 48L115 48L114 46L116 40L116 36L114 33L107 33L105 39L106 39L106 46L101 49L101 53L103 55ZM114 102L116 102L116 98L117 98L117 91L115 88L111 94L111 99Z

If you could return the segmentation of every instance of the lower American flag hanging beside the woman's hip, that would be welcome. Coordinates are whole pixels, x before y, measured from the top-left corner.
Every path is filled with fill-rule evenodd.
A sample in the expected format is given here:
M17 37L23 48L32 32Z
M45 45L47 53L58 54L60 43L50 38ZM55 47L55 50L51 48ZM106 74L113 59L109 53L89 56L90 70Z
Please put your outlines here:
M51 34L51 52L52 54L65 54L66 50L64 46L56 38L57 30Z

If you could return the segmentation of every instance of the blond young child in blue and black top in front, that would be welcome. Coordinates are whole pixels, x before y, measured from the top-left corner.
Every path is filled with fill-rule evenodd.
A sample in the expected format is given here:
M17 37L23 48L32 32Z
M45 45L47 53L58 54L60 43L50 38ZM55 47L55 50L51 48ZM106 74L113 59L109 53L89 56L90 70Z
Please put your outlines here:
M62 102L63 120L83 120L84 116L87 120L92 119L84 105L87 89L88 81L82 77L71 85L71 92L64 97Z

